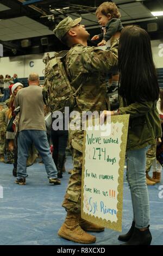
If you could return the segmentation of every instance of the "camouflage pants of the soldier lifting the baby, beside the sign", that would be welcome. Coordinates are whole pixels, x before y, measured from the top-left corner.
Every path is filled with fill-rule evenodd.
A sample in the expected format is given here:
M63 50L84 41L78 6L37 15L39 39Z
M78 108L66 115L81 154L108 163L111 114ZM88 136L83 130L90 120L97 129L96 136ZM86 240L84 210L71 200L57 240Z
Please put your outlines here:
M74 136L74 133L76 132L77 137ZM67 211L80 213L82 190L83 131L76 132L71 132L71 134L69 133L73 156L73 170L62 206Z

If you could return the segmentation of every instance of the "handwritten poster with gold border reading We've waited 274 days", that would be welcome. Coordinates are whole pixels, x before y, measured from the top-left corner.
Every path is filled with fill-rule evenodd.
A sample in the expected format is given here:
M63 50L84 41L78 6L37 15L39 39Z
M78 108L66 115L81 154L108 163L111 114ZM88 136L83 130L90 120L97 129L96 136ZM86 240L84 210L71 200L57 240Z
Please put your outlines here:
M82 218L122 231L123 169L129 115L111 117L109 136L86 129L83 144Z

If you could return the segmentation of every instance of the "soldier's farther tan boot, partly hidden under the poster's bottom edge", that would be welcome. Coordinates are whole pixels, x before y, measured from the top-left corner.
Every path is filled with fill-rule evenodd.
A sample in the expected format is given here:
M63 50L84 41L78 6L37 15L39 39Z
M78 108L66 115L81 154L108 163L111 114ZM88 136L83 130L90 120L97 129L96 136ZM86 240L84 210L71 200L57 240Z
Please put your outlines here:
M95 223L83 220L83 218L79 218L80 227L87 232L102 232L104 231L104 227L101 227Z

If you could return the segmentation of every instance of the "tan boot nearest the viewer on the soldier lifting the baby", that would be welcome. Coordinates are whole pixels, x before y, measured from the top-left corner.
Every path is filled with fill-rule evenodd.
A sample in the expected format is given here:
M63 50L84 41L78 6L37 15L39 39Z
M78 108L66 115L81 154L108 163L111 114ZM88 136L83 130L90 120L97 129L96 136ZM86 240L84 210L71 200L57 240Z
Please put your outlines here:
M76 243L94 243L96 236L86 233L79 225L80 214L74 214L67 211L64 224L58 231L58 235L64 239L71 240Z

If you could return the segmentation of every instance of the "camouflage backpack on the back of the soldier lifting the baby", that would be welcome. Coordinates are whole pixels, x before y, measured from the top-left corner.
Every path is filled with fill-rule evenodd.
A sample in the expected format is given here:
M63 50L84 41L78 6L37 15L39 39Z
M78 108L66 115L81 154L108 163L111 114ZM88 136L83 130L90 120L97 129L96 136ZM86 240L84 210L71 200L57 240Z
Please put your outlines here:
M45 83L42 89L43 101L52 112L64 112L65 107L71 109L76 105L76 91L68 80L64 58L68 51L55 53L45 68Z

